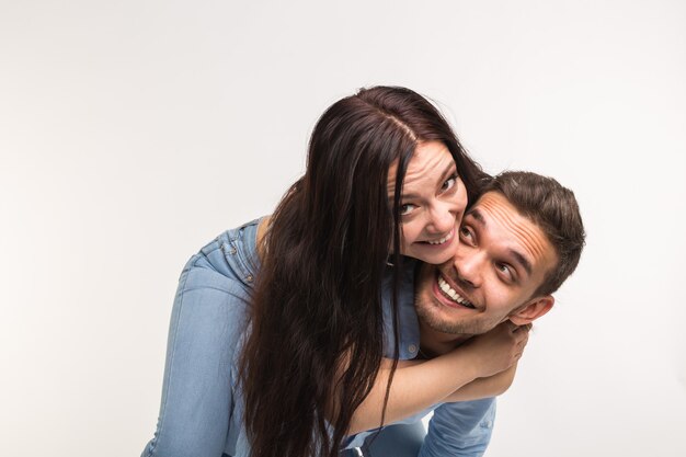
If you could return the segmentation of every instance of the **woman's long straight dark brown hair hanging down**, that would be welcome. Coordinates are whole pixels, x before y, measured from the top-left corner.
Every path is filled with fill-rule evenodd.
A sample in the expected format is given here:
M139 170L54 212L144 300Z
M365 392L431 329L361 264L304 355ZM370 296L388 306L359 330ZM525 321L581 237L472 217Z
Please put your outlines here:
M381 281L391 245L392 262L402 261L402 180L427 140L446 145L475 192L482 172L438 111L409 89L359 90L317 123L307 171L272 215L253 295L240 366L252 457L338 456L384 356ZM395 339L397 363L397 330ZM390 380L384 409L389 388Z

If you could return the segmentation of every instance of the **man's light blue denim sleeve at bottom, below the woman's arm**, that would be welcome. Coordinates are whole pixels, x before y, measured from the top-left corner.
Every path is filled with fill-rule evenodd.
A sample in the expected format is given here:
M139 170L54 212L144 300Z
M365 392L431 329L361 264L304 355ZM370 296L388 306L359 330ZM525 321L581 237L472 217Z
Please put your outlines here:
M434 410L419 457L478 457L493 432L495 398L444 403Z

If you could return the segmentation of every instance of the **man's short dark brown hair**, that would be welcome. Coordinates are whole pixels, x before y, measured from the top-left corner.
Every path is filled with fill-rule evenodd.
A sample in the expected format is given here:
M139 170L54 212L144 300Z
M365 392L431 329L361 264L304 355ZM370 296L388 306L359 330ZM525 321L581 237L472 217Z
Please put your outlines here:
M505 171L493 178L483 192L501 193L544 231L558 262L534 296L556 292L576 269L586 238L574 193L552 178L527 171Z

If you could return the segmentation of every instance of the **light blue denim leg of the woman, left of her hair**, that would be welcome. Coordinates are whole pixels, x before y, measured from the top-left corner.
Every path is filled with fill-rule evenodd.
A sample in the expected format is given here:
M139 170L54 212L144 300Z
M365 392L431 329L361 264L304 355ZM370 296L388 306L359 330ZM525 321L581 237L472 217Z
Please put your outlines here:
M230 267L216 241L181 275L158 426L141 457L220 457L233 446L232 368L247 325L248 293Z

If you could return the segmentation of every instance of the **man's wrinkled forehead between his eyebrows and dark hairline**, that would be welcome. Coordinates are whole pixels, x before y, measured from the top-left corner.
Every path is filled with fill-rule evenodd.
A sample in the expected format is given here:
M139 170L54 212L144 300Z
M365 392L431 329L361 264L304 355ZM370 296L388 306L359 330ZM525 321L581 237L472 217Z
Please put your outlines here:
M534 265L542 265L547 271L556 262L554 250L545 232L500 192L483 194L467 216L490 235L484 241L510 247L511 253L529 273Z

